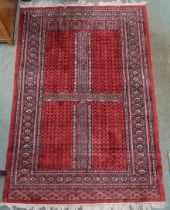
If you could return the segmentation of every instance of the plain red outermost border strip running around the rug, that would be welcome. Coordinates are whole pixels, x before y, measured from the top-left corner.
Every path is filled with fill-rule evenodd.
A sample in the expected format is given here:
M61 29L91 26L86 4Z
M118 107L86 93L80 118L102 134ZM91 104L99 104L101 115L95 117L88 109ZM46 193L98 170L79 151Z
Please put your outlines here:
M24 18L24 10L33 10L33 9L47 9L47 8L65 8L66 6L49 6L49 7L23 7L20 8L19 14L19 24L18 24L18 41L16 47L16 63L15 63L15 73L14 73L14 88L13 88L13 100L12 100L12 108L11 108L11 118L10 118L10 129L9 129L9 142L8 149L6 154L6 171L7 174L10 172L10 163L12 156L12 146L13 146L13 133L14 133L14 124L15 124L15 113L16 113L16 103L17 103L17 79L19 72L19 64L20 64L20 54L21 54L21 37L22 37L22 28L23 28L23 18ZM67 7L76 7L76 6L67 6ZM160 143L159 143L159 131L158 131L158 117L157 117L157 109L156 109L156 97L154 91L154 80L153 80L153 68L152 68L152 60L151 60L151 46L150 46L150 34L149 34L149 23L148 23L148 14L147 14L147 6L146 5L124 5L124 6L79 6L80 7L90 7L90 8L129 8L129 7L139 7L143 8L144 11L144 30L146 33L146 47L147 47L147 64L148 64L148 73L149 73L149 81L150 81L150 92L151 92L151 101L152 101L152 110L153 110L153 125L154 125L154 136L155 136L155 153L157 157L157 178L160 187L160 199L159 200L112 200L106 202L106 200L98 200L98 201L7 201L6 197L8 194L8 186L10 184L10 174L5 177L4 180L4 189L3 189L3 197L2 201L5 203L24 203L24 204L97 204L97 203L160 203L165 201L165 191L162 182L162 162L161 162L161 152L160 152Z

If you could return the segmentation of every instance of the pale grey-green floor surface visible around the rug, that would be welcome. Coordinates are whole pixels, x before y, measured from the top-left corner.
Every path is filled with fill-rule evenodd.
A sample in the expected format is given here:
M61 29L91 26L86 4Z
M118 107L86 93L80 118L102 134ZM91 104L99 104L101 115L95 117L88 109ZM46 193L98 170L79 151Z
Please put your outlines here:
M73 0L75 2L75 0ZM97 3L99 0L95 0ZM65 1L66 2L66 1ZM67 1L68 2L68 1ZM91 0L92 2L92 0ZM64 3L64 1L63 1ZM166 200L170 203L170 174L167 151L170 150L170 2L150 0L148 4L152 63L157 100L160 148ZM17 32L17 26L16 26ZM13 94L15 46L0 44L0 168L5 165L8 129ZM3 178L0 177L0 197ZM0 207L7 210L7 207ZM166 208L170 210L170 206Z

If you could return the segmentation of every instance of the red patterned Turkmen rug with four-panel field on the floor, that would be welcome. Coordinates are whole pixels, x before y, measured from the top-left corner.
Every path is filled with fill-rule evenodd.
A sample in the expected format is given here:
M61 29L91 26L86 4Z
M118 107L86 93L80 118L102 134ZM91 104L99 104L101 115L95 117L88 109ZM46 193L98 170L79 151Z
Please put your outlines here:
M163 205L145 6L21 9L6 170L5 203Z

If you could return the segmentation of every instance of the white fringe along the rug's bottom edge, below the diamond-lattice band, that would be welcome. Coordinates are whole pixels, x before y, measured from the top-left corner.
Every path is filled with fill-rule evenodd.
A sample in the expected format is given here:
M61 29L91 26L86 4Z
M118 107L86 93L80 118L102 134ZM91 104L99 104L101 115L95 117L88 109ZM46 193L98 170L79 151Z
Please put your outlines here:
M0 203L0 207L9 207L10 210L16 210L16 208L24 208L27 210L152 210L164 209L167 207L165 202L154 203L113 203L113 204L10 204Z

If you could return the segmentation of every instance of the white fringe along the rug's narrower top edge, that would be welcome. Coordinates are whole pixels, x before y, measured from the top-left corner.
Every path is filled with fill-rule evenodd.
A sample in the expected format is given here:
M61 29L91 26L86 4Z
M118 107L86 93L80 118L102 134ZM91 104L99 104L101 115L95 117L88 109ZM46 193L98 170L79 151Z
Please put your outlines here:
M145 5L149 3L144 0L110 0L103 2L102 0L78 0L78 1L62 1L61 0L32 0L31 2L21 2L20 7L46 7L46 6L97 6L97 5Z

